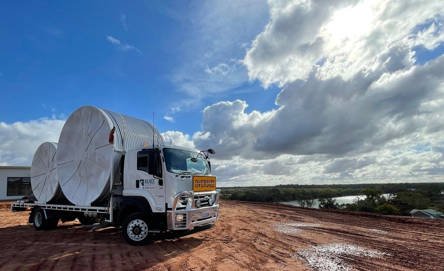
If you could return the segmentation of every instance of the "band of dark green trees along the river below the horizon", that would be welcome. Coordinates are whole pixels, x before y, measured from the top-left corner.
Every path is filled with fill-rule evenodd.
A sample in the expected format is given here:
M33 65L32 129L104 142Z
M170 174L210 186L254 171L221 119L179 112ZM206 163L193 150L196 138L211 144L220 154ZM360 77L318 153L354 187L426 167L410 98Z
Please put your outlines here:
M412 209L444 212L444 183L391 183L353 185L277 185L221 188L221 198L259 202L296 200L303 207L409 215ZM389 196L383 196L389 194ZM365 195L351 204L337 204L335 197Z

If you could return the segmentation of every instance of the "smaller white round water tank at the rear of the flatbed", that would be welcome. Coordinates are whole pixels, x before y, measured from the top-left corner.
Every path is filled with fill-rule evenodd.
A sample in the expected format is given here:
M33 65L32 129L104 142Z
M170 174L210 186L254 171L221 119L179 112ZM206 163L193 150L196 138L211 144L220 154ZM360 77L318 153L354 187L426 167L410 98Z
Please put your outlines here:
M57 179L57 143L44 142L32 158L31 187L38 201L66 201Z

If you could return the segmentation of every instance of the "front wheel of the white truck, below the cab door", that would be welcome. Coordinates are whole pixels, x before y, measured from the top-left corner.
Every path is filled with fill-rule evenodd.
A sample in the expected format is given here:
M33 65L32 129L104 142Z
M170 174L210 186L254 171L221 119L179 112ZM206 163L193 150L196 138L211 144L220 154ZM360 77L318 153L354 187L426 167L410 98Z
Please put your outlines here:
M141 212L128 216L122 224L123 239L131 246L144 246L153 241L153 235L148 232L148 218Z

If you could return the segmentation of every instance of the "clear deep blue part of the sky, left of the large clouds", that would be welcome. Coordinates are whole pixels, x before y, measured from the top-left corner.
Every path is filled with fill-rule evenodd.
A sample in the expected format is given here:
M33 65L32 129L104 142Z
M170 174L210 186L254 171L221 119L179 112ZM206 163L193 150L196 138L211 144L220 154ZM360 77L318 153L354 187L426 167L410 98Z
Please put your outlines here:
M264 91L245 70L242 80L221 82L217 87L223 91L202 89L199 97L183 91L176 77L187 71L184 81L193 84L207 80L206 65L242 59L246 49L241 43L250 43L268 21L264 9L262 24L240 36L228 33L230 39L218 48L219 33L200 35L205 26L199 8L180 1L1 3L0 106L7 110L0 112L0 120L63 118L79 106L94 105L149 120L155 111L159 130L192 134L200 129L203 108L220 100L246 100L248 110L274 108L278 88ZM134 48L119 49L108 36ZM214 56L206 58L207 52ZM198 70L200 59L206 63ZM177 106L180 114L172 114ZM175 122L163 119L166 114Z

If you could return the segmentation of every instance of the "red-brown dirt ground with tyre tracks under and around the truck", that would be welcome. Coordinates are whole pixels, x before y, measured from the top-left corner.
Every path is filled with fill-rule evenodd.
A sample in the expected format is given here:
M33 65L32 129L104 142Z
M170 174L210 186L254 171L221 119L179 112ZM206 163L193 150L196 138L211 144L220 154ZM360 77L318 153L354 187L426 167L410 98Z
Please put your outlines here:
M0 208L0 270L305 271L313 270L309 262L293 255L337 243L385 253L337 256L349 270L444 270L444 221L438 220L223 200L216 227L132 247L119 228L92 232L73 221L35 231L28 212L11 213L7 203ZM273 228L277 223L320 225L282 233Z

